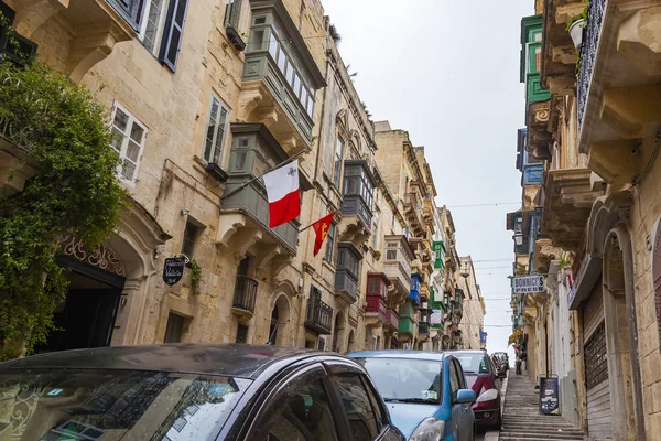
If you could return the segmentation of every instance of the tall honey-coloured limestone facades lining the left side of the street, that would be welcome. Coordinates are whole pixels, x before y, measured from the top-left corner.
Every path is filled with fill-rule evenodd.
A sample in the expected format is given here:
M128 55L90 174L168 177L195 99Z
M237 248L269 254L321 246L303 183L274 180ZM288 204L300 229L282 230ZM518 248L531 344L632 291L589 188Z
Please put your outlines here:
M237 342L347 353L431 340L432 171L405 132L370 120L318 0L2 0L0 10L21 50L108 109L130 193L106 244L63 244L71 291L56 322L68 331L39 351ZM271 229L259 176L294 158L301 215ZM315 257L306 227L330 212ZM183 279L165 284L164 259L182 255ZM102 324L72 322L93 306Z

